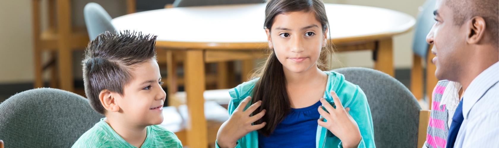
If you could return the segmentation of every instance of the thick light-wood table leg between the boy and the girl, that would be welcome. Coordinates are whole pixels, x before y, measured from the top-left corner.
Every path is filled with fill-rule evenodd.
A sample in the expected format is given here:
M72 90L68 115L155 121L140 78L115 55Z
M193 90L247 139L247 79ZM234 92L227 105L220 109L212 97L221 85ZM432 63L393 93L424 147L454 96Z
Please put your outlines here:
M202 50L186 52L185 88L189 119L187 123L187 146L189 148L208 147L208 129L204 113L205 63Z

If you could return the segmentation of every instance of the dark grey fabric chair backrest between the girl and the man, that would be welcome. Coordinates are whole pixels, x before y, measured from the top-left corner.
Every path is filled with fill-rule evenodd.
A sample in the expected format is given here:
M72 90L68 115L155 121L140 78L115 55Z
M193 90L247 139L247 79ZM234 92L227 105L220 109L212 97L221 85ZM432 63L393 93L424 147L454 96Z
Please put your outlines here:
M332 70L345 75L367 96L378 148L416 148L421 107L411 91L388 74L367 68Z

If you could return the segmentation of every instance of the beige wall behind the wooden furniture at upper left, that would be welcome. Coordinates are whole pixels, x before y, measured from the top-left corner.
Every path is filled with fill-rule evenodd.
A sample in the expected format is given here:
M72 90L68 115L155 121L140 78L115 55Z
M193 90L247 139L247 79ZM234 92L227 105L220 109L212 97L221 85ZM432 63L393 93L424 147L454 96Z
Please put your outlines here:
M42 0L43 12L46 12L46 2ZM72 0L73 25L84 25L83 7L88 2L101 4L113 18L126 11L125 0ZM45 14L43 12L40 14ZM33 80L31 14L31 0L0 0L0 83ZM46 18L46 15L42 15L41 20ZM42 22L42 27L45 26L46 22ZM81 50L73 53L74 67L79 66L82 54ZM81 77L81 70L74 69L73 72L75 77Z

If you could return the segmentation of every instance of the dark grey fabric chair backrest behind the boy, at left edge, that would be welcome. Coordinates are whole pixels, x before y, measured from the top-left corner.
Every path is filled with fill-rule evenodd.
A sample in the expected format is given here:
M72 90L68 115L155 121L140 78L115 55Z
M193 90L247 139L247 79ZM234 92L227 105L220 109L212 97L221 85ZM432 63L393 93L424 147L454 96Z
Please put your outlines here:
M69 148L101 118L78 94L31 89L0 104L0 139L6 148Z

